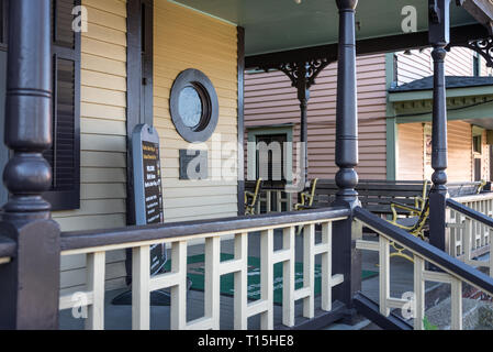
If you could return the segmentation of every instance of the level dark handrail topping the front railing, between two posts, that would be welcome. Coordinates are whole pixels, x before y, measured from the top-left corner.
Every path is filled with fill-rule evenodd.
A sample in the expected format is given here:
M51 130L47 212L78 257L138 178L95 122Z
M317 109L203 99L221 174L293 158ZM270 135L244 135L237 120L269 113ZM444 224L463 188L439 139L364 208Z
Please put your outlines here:
M127 227L109 230L63 232L60 250L117 245L133 242L157 241L171 238L193 237L204 233L238 233L242 230L261 231L264 228L290 226L317 220L344 219L350 216L348 208L321 208L295 212L268 213L255 217L236 217L215 220L199 220Z

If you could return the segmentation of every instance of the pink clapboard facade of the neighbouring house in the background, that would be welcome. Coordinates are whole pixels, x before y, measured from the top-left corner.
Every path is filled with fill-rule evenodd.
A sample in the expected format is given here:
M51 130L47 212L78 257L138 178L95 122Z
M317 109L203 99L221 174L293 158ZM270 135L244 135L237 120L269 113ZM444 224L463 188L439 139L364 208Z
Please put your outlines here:
M427 87L429 97L417 101L399 101L397 92L399 87L432 75L430 50L358 56L357 72L359 177L430 179L433 86ZM452 47L446 58L446 75L455 76L457 80L460 80L459 77L489 77L491 68L477 53L464 47ZM285 135L289 141L300 141L300 102L289 77L280 70L250 70L245 77L245 141L251 142L259 134ZM336 64L330 64L318 74L310 89L309 178L329 179L337 172L334 153L336 79ZM432 80L428 82L432 85ZM493 110L481 106L479 113L466 108L468 105L475 108L479 99L483 101L489 94L488 85L492 82L483 79L482 85L473 87L474 91L466 97L455 95L456 106L449 102L449 109L453 110L459 107L457 99L468 99L460 106L461 110L464 109L460 117L451 118L453 112L449 114L449 182L490 180L490 146L486 143L488 121L493 118ZM484 91L481 92L481 89ZM422 103L421 110L415 108L418 103ZM479 143L475 148L473 140ZM245 151L246 177L254 178L255 172L248 173L248 168L256 169L256 156L248 153L246 146ZM478 160L481 160L481 166ZM479 167L480 172L474 167Z

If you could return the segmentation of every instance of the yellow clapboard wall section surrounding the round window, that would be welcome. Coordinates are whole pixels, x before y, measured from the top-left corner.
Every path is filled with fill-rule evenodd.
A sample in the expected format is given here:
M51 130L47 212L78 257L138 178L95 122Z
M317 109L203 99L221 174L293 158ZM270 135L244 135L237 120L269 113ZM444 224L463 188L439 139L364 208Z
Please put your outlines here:
M237 170L233 179L179 180L179 150L190 146L175 129L169 94L175 78L187 68L202 70L214 85L220 119L209 148L209 176L221 165L237 162L237 38L236 26L166 0L155 1L154 124L161 141L165 221L210 219L237 215ZM220 154L211 150L219 143ZM194 148L204 148L197 146Z

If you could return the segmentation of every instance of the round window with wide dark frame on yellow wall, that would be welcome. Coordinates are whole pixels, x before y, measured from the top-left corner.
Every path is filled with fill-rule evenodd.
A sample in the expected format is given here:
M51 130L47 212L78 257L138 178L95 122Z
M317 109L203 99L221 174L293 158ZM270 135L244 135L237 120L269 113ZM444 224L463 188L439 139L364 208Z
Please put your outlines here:
M172 122L189 142L205 142L219 119L217 95L211 80L200 70L186 69L178 75L169 99Z

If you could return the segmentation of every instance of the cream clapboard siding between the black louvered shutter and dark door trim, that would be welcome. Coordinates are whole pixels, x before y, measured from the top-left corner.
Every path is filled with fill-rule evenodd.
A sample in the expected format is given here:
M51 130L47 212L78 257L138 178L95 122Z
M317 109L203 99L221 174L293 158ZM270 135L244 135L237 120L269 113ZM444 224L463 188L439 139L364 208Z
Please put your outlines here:
M63 231L126 223L126 1L82 0L80 209L57 211ZM124 286L124 252L107 257L107 289ZM61 292L83 289L83 255L61 257Z

